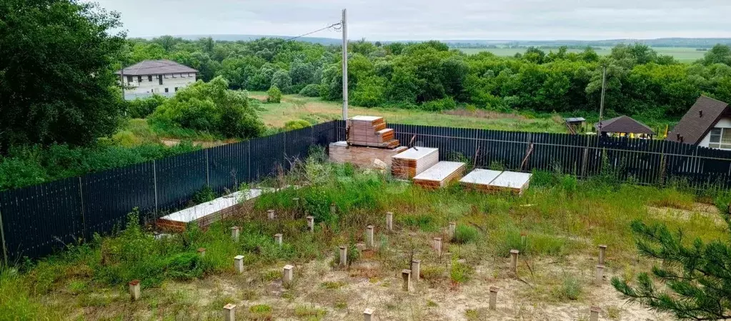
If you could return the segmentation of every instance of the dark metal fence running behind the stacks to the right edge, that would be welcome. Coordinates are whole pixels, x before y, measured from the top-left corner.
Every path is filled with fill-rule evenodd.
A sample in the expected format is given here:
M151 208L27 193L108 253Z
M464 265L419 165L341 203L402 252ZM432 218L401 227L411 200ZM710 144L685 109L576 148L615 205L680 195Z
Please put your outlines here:
M344 121L337 137L344 139ZM540 132L505 132L440 126L388 124L406 145L439 148L439 160L461 160L477 168L560 170L588 177L612 170L622 181L695 188L731 187L731 151L667 140L641 140ZM414 138L415 137L415 138Z

